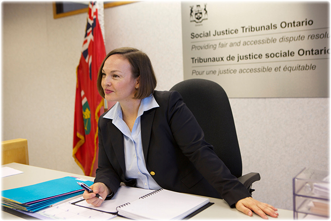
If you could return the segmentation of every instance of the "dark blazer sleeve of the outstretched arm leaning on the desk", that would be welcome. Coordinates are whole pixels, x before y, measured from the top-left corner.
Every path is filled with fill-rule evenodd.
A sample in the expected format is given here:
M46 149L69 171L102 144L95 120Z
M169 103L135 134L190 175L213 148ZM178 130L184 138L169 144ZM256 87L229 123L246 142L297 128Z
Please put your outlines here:
M202 128L175 91L169 98L168 122L182 153L231 207L239 200L251 197L245 186L216 155L213 146L205 141Z

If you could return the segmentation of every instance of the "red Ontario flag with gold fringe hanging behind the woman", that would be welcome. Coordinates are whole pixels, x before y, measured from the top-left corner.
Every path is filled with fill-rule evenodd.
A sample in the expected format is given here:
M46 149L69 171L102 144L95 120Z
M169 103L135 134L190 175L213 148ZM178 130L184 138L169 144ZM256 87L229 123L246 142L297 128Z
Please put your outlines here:
M98 19L99 4L89 3L85 37L77 67L73 157L85 175L93 169L98 154L98 120L104 100L97 89L98 70L106 57ZM102 7L100 7L102 8ZM101 9L103 13L103 8Z

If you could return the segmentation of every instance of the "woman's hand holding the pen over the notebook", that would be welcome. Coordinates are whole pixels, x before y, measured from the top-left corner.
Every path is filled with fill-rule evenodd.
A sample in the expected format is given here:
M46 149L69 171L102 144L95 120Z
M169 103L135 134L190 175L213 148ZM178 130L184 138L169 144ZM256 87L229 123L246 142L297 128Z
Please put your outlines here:
M111 190L104 183L95 183L90 188L93 190L93 193L88 193L88 191L84 191L83 198L87 203L93 206L100 206L101 203L106 199L108 195L111 194ZM96 197L97 193L103 198L99 199Z

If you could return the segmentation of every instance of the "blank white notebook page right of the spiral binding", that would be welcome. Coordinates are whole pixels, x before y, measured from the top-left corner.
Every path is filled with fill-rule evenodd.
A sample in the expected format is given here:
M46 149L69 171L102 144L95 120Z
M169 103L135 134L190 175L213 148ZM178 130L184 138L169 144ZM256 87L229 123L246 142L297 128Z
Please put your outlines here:
M208 198L162 190L118 208L118 214L133 219L182 219L208 202Z

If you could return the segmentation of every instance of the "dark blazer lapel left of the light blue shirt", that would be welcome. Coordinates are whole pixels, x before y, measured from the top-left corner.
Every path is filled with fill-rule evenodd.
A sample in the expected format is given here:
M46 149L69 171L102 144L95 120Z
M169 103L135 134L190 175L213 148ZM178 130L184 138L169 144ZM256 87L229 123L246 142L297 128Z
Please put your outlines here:
M122 168L123 174L125 172L125 159L124 159L124 141L122 132L112 123L108 122L108 128L111 133L110 139L116 155L116 158Z

